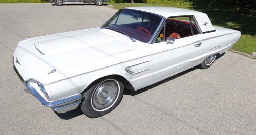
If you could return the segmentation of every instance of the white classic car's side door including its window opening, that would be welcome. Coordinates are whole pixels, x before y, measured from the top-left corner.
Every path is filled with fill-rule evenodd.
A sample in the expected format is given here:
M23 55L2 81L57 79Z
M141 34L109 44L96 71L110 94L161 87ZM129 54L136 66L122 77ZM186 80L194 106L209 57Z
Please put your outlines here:
M173 33L176 33L176 39L168 44L166 37ZM154 53L151 84L198 65L201 62L199 56L202 54L201 36L193 16L166 19L155 43L150 45Z

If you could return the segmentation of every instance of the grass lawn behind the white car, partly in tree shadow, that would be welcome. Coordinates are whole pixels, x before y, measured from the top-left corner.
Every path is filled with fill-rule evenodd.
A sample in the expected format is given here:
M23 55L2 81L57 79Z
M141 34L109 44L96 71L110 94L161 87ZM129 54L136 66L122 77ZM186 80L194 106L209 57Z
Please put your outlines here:
M245 9L244 14L238 15L235 7L195 7L189 4L145 4L145 3L113 3L116 9L133 6L165 6L196 10L206 13L216 26L241 31L241 38L232 49L251 54L256 52L256 9Z

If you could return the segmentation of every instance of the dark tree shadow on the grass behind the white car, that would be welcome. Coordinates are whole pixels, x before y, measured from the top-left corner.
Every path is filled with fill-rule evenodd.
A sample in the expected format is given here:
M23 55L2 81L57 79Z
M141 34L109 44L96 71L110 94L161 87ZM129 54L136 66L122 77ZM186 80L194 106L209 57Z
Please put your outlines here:
M242 34L256 35L256 9L244 9L241 16L236 7L195 6L190 9L206 13L213 25L239 30Z

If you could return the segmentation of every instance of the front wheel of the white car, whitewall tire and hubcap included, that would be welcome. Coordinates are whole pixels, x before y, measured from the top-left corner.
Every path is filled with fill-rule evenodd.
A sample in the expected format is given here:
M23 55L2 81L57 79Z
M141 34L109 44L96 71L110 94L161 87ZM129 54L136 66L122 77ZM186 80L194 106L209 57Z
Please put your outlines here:
M80 108L91 118L106 115L121 101L123 89L123 83L116 78L98 80L83 94Z

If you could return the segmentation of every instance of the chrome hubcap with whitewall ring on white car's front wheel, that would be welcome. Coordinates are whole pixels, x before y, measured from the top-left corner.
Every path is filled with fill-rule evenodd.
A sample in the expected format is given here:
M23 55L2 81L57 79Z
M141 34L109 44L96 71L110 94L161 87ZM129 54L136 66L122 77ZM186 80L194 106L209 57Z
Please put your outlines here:
M110 108L116 101L120 91L118 82L109 79L101 82L92 95L92 107L97 111Z

